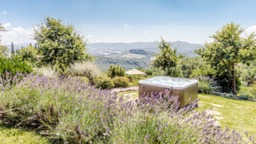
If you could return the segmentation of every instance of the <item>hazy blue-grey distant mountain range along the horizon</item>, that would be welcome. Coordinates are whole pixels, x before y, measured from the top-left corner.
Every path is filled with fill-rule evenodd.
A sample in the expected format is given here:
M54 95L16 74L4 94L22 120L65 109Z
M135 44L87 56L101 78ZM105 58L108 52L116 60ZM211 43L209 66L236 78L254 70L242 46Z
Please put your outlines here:
M172 48L177 48L177 51L179 53L183 53L185 55L189 55L189 57L195 57L197 55L194 55L193 52L195 52L195 49L198 49L199 47L203 46L203 44L195 44L195 43L188 43L188 42L170 42L172 43ZM15 49L20 49L22 46L26 47L30 43L14 43ZM33 45L34 43L32 43ZM10 44L6 45L9 49L11 47ZM178 46L178 47L177 47ZM129 51L130 49L144 49L146 51L151 52L158 52L158 44L154 42L137 42L137 43L88 43L87 47L88 52L90 55L113 55L118 53L123 53L126 51Z

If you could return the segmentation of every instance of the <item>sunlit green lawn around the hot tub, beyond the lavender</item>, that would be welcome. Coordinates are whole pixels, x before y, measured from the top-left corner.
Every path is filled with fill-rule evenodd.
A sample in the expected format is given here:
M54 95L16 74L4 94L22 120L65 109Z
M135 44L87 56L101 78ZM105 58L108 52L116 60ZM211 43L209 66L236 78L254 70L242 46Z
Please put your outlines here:
M129 95L130 99L136 99L138 91L119 93L119 95ZM222 129L226 125L231 130L236 130L244 138L245 132L249 135L256 135L256 101L243 101L224 98L216 95L199 94L201 99L199 107L195 111L212 108L213 118L217 119Z

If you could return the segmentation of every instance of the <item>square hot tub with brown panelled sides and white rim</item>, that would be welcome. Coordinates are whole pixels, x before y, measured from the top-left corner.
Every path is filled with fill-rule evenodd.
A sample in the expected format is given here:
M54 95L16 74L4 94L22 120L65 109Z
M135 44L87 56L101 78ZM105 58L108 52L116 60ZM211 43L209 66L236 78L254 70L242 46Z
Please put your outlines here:
M179 107L185 107L190 101L195 101L198 95L198 81L187 78L171 78L167 76L157 76L143 79L138 82L139 95L150 95L151 92L159 93L166 88L172 88L170 95L178 95ZM190 101L189 98L191 97Z

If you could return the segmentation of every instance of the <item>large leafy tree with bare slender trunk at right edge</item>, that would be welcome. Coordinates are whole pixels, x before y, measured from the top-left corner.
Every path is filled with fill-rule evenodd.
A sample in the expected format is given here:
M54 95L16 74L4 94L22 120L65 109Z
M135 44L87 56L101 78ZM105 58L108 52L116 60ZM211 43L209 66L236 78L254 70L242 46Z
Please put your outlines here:
M240 25L231 22L212 35L214 42L206 43L205 48L195 50L207 62L218 70L219 75L224 72L232 74L232 90L236 94L235 65L238 62L249 65L248 60L255 58L255 35L251 33L247 37L241 37L244 29Z

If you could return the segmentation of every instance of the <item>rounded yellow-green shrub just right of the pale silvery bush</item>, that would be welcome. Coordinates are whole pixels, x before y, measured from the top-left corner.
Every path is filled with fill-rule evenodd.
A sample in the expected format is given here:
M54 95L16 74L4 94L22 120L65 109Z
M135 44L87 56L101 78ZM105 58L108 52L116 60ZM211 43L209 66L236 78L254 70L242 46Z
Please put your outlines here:
M113 80L104 73L94 78L93 83L96 85L96 88L112 89L114 87Z

